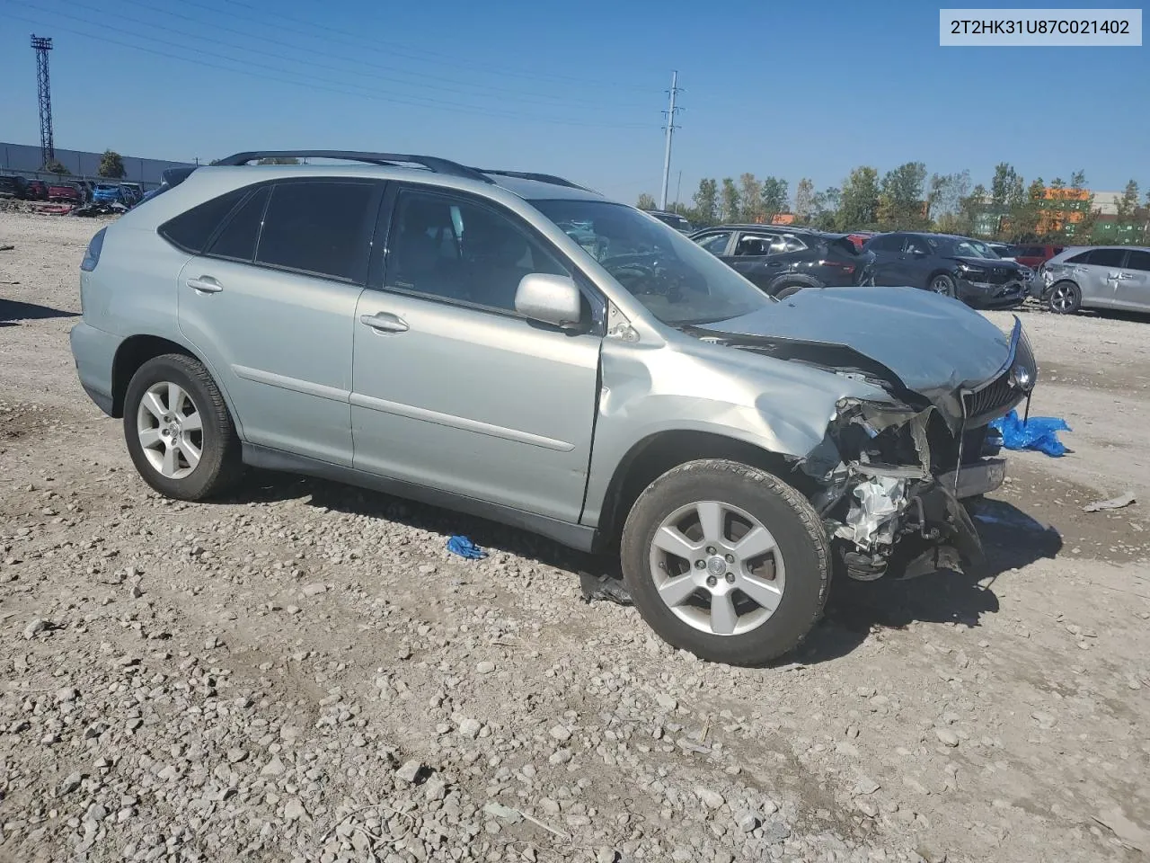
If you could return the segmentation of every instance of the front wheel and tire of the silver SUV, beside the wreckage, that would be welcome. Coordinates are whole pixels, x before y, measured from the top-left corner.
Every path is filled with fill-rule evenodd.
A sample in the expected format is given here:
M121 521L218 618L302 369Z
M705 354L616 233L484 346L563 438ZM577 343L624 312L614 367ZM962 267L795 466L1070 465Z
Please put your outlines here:
M704 517L718 529L704 532ZM743 557L737 540L746 539L752 522L766 532L752 544L769 550L744 545L750 555ZM665 529L669 525L677 537ZM723 459L690 461L652 482L627 517L620 556L623 581L647 625L674 647L729 665L764 665L798 647L830 585L827 536L806 498L765 471Z

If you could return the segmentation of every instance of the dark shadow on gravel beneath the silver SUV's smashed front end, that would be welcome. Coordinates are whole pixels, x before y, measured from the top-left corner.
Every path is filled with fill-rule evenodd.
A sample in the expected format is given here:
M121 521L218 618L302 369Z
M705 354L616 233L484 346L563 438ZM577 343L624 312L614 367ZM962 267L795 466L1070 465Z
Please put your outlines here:
M831 585L822 621L793 658L808 665L837 659L873 633L905 629L913 623L980 626L983 614L998 612L994 586L999 576L1053 558L1063 548L1057 530L1003 501L983 501L974 520L986 551L981 566L969 572L942 570L906 581L838 579Z

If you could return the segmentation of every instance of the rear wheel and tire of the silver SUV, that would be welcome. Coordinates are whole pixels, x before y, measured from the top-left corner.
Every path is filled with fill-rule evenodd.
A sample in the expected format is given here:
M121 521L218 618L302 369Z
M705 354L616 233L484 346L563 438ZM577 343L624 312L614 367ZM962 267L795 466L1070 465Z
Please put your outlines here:
M239 437L220 388L198 360L182 353L155 357L132 375L124 440L137 472L164 497L202 501L243 475ZM177 443L168 443L172 440Z

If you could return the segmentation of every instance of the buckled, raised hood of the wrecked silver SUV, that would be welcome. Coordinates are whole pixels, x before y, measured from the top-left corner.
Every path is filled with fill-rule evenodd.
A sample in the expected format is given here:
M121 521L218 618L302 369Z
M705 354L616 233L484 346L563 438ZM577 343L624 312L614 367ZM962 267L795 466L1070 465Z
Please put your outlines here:
M851 366L836 356L868 358L935 404L951 402L959 387L989 381L1010 357L1010 337L981 314L914 288L806 289L695 329L783 359L802 349L818 361L820 348L828 366ZM746 337L744 345L739 337Z

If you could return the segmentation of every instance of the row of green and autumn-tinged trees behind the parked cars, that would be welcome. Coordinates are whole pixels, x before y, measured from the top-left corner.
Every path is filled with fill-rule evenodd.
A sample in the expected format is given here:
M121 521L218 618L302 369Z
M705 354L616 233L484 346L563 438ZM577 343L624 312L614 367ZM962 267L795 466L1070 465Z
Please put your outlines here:
M1052 205L1046 189L1064 189L1068 200ZM650 194L641 194L638 206L653 209ZM1066 238L1065 223L1071 212L1075 242L1087 242L1097 222L1094 194L1087 190L1086 174L1073 171L1070 181L1055 177L1046 183L1035 177L1027 183L1007 162L995 166L989 188L973 184L969 170L956 174L927 174L923 162L906 162L881 177L869 166L854 168L837 186L815 190L804 177L791 199L785 180L762 180L743 174L736 182L724 177L699 181L691 204L675 204L675 212L692 224L706 228L730 222L770 222L789 213L793 224L827 231L935 230L964 236L983 236L1010 243L1059 242ZM1044 209L1055 216L1043 219ZM1150 190L1141 197L1138 184L1130 181L1118 201L1119 219L1141 221L1135 242L1150 240ZM989 230L988 230L989 228Z

